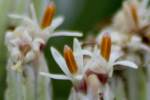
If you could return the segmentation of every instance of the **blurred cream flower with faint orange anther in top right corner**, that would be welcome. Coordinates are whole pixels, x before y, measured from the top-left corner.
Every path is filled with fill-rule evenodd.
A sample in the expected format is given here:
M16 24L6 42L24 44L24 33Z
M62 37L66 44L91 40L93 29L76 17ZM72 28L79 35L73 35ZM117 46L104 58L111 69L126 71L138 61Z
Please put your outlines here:
M149 0L127 0L113 20L116 30L123 33L136 33L149 37L150 8ZM143 34L147 33L147 34Z

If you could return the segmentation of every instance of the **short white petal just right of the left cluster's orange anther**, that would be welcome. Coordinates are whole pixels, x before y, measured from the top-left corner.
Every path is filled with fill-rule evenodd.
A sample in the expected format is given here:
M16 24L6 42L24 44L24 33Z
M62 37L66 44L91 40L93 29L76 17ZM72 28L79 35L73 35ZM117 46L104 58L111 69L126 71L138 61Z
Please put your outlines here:
M59 16L53 19L52 24L46 29L48 29L50 32L53 32L58 26L60 26L63 23L63 21L64 21L64 17Z

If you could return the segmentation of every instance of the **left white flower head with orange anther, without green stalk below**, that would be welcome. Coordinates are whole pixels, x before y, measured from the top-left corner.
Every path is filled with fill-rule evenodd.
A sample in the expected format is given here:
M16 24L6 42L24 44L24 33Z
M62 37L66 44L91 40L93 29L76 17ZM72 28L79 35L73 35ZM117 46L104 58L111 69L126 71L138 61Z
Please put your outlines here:
M29 64L38 58L42 51L41 49L43 49L47 40L51 37L82 36L79 32L54 32L63 22L62 17L52 20L54 8L53 4L47 6L41 25L38 23L33 5L31 5L31 18L17 14L9 15L11 18L22 20L20 26L14 31L7 32L5 36L5 44L14 63L12 65L13 69L19 68L18 66L23 64Z

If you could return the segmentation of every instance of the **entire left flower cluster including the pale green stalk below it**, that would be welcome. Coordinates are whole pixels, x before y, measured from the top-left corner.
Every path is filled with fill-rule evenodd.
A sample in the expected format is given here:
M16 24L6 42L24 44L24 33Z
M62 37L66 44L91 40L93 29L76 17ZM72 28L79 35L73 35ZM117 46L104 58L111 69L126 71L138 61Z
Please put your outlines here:
M39 75L48 72L43 49L51 37L82 36L80 32L55 31L63 22L63 17L56 17L55 5L50 3L39 24L33 5L31 18L17 14L9 17L21 21L13 31L6 32L5 44L9 51L7 65L6 100L51 100L50 80ZM40 94L40 95L38 95Z

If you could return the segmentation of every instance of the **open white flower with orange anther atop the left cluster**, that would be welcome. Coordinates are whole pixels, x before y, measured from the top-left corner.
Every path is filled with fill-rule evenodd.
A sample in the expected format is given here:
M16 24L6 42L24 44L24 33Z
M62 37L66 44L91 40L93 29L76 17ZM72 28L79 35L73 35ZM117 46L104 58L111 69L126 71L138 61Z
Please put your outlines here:
M43 24L39 24L35 10L33 5L31 5L31 18L23 15L17 15L17 14L10 14L9 17L13 19L20 19L22 20L22 26L26 27L26 29L30 32L30 35L33 37L39 37L42 38L44 41L47 41L51 37L56 37L56 36L82 36L81 33L79 32L71 32L71 31L56 31L54 30L59 27L62 23L64 18L63 17L57 17L52 20L53 14L53 4L48 5L46 8L46 14L50 14L50 17L43 17L42 23L46 24L43 26ZM54 9L55 10L55 9ZM49 20L50 19L50 20Z

